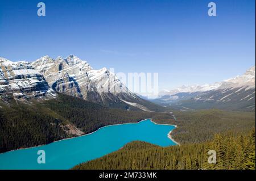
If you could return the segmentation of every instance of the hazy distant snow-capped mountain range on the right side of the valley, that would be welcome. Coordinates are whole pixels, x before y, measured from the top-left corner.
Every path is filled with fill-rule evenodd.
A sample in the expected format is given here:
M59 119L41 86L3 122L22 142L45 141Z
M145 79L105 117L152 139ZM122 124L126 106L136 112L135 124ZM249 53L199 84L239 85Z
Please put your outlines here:
M212 85L182 86L164 90L152 102L179 110L222 108L227 110L255 110L255 66L243 75Z

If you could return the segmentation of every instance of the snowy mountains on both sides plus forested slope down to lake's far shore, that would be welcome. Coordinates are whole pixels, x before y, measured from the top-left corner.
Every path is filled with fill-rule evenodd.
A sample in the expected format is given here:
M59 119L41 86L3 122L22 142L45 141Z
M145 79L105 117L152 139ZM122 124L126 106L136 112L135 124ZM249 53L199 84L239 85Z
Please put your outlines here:
M255 111L255 66L232 79L183 86L150 100L129 91L108 69L94 70L73 55L32 62L0 58L0 152L146 117L175 120L171 110Z

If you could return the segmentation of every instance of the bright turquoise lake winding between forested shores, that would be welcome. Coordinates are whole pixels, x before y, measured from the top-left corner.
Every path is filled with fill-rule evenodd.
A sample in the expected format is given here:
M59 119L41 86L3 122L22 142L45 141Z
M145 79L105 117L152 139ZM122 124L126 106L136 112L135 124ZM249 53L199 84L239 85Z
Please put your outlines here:
M116 151L131 141L159 146L176 145L168 138L174 125L159 125L150 119L102 127L84 136L56 141L35 148L0 154L0 169L71 169L73 166ZM46 163L38 163L38 150L46 153Z

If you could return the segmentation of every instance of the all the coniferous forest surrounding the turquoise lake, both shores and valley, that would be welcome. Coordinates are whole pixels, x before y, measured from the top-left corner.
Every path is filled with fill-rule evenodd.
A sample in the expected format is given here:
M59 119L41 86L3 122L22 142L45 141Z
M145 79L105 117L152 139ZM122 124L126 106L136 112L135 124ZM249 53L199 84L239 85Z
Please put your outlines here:
M135 141L74 169L255 169L255 112L127 111L63 94L40 102L0 104L0 152L77 136L67 125L86 134L151 117L155 123L177 125L172 138L181 146ZM210 149L217 151L216 164L207 162Z

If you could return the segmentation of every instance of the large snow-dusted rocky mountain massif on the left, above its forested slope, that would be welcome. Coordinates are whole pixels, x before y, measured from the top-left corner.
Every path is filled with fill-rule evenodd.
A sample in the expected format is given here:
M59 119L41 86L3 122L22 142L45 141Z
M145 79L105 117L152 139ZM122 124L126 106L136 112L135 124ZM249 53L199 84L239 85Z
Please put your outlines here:
M111 108L159 111L157 104L139 98L106 68L94 70L70 55L12 62L0 57L1 99L51 99L60 92Z

